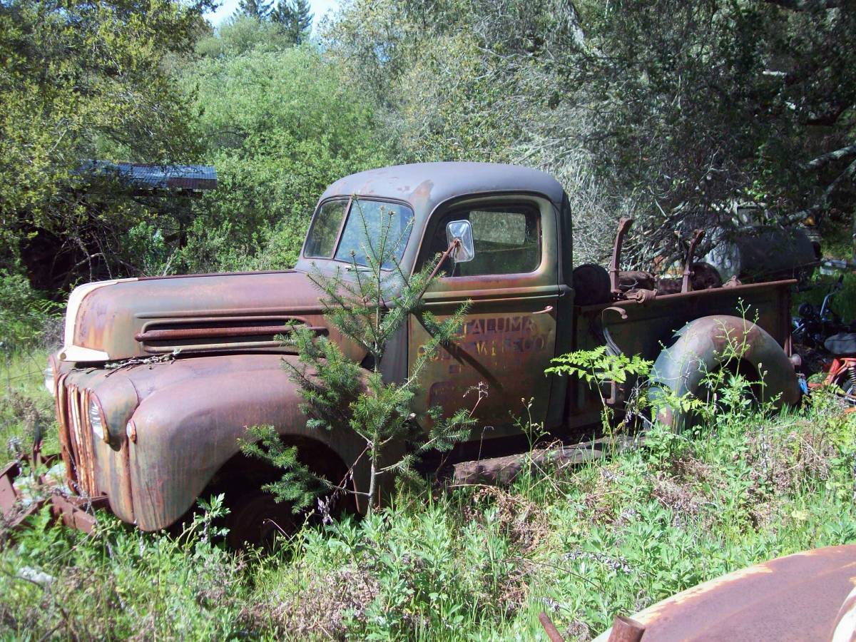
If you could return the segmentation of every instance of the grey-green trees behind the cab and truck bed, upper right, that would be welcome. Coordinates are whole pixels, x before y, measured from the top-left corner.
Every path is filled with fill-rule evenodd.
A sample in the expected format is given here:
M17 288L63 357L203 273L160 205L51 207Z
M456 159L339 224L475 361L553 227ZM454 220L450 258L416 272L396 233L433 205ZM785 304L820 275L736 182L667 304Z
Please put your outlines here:
M650 265L736 202L770 223L853 207L854 23L843 1L354 0L325 42L406 158L550 170L578 256L629 213Z

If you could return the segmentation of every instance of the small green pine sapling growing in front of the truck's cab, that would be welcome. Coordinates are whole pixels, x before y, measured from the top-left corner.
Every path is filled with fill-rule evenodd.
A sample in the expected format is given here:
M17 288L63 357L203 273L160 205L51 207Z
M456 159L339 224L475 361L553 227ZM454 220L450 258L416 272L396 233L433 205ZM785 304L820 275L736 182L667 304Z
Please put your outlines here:
M292 380L300 385L303 399L300 409L308 417L307 427L330 431L344 427L365 443L361 457L369 467L367 490L349 488L345 480L323 479L301 463L296 447L283 444L271 426L251 428L251 440L242 443L247 455L270 462L284 471L282 479L265 485L277 501L292 502L294 510L307 508L317 496L330 491L351 493L366 501L369 513L379 502L379 480L385 475L398 479L418 478L414 465L429 450L448 450L470 434L475 424L473 409L461 409L443 417L439 407L428 412L431 428L419 429L411 411L413 396L419 389L419 377L437 351L448 345L460 331L467 304L442 321L422 309L422 295L431 285L443 261L453 260L452 246L433 265L408 275L398 257L409 234L409 223L401 226L392 209L382 209L372 224L364 215L360 201L354 210L362 224L361 253L352 252L350 264L337 268L332 276L320 270L310 275L321 291L324 316L345 341L354 342L366 354L361 366L348 358L341 346L326 336L317 336L305 326L295 325L283 341L296 348L297 365L285 362ZM395 334L407 324L411 314L419 317L431 339L419 350L407 377L401 382L383 381L381 362ZM408 449L400 449L407 442ZM393 455L395 451L395 455ZM403 452L402 455L398 453ZM389 461L389 460L393 461ZM359 463L352 464L351 471Z

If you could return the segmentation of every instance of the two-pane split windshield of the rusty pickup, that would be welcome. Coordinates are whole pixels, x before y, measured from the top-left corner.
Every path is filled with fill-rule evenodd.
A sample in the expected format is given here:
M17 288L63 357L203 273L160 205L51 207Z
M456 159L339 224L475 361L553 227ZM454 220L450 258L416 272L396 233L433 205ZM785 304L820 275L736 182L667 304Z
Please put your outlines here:
M380 259L383 252L383 268L391 269L394 262L401 260L407 246L413 210L399 203L368 199L352 199L350 205L348 210L346 199L321 205L306 237L304 255L367 265L366 253ZM345 216L348 218L336 245L336 235Z

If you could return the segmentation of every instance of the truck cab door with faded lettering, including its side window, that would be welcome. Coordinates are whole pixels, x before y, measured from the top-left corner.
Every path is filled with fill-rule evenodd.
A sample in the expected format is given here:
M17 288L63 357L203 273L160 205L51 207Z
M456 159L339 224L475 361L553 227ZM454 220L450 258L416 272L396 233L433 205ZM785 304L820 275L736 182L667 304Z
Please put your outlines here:
M420 425L426 425L430 407L440 406L448 416L478 401L479 425L494 429L484 436L501 437L516 431L515 418L543 421L550 401L544 369L555 354L561 295L555 214L549 201L532 196L453 205L435 213L425 229L420 267L433 265L448 247L446 223L456 220L471 223L475 256L443 265L425 293L425 310L443 319L467 300L470 307L454 344L439 348L425 367L413 407ZM412 368L429 335L418 315L411 315L409 324Z

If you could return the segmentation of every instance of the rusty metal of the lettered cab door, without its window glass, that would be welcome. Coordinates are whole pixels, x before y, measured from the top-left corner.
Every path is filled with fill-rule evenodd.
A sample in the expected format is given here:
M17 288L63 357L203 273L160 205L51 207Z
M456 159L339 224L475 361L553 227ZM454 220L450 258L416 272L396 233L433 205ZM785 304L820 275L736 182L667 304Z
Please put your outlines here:
M515 202L520 202L517 197ZM487 201L490 202L490 201ZM425 310L437 320L469 302L467 316L455 342L440 348L423 371L422 389L413 399L420 425L430 425L427 411L439 406L445 413L473 407L477 390L486 389L475 416L480 426L474 438L519 434L515 417L544 421L549 413L552 383L544 375L556 355L557 309L570 289L559 284L559 239L555 208L550 201L529 197L540 214L541 260L523 274L447 276L437 279L422 297ZM442 227L443 210L425 229L431 238ZM415 233L414 233L415 235ZM419 261L429 259L431 247L423 241ZM413 368L430 335L417 315L408 321L407 363ZM532 401L528 409L526 405ZM514 416L512 416L514 415Z

